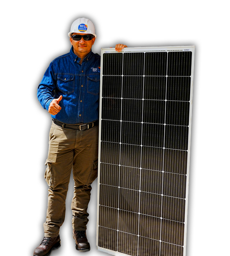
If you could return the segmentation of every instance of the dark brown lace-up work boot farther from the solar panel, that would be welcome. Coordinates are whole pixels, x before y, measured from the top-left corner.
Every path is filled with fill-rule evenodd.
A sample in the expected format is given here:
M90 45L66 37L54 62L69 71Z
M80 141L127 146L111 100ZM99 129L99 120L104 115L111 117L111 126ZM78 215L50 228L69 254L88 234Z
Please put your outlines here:
M60 235L57 238L44 237L39 247L34 249L34 256L50 256L52 251L56 251L61 247Z

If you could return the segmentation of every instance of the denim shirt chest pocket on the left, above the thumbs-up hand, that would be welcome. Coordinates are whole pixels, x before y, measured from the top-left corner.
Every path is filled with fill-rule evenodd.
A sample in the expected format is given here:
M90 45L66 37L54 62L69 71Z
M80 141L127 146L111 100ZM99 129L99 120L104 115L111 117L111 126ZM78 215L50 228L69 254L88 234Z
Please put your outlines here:
M57 75L57 88L64 94L69 94L74 91L74 76Z

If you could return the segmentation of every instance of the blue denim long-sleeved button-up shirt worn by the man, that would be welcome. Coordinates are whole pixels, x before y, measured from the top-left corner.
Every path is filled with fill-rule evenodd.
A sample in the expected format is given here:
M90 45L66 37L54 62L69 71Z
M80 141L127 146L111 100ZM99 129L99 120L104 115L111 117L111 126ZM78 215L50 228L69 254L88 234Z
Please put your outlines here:
M80 58L70 52L57 57L50 63L41 83L37 97L41 106L48 111L53 99L62 95L62 107L52 118L63 123L90 123L98 120L100 56L90 51L79 64Z

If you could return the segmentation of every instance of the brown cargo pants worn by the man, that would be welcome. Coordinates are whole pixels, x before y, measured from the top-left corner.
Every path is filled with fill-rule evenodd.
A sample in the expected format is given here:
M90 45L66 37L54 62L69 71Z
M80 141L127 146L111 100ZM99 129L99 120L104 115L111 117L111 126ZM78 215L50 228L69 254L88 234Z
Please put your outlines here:
M65 220L65 201L73 172L72 228L86 230L91 184L98 171L98 125L85 131L62 128L52 123L44 175L48 190L44 236L57 237Z

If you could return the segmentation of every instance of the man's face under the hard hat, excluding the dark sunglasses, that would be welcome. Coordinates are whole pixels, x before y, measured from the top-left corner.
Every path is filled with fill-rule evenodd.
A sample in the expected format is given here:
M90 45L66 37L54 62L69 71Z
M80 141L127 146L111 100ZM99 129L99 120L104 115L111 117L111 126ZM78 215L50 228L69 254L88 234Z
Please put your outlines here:
M80 34L80 33L73 33L71 36L73 35L85 35L85 34ZM72 37L70 37L70 43L73 46L74 49L74 53L78 56L78 55L88 55L88 53L90 52L94 42L95 42L95 37L93 37L92 40L89 41L85 41L83 39L83 37L80 39L80 41L74 41L72 39Z

